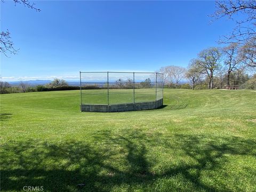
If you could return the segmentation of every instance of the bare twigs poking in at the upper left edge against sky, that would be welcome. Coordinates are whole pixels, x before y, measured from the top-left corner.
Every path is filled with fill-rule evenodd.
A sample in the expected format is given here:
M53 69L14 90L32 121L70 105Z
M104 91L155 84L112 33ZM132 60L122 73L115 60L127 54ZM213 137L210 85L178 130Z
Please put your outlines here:
M4 3L4 0L1 0L2 3ZM23 4L24 6L36 10L37 12L40 12L40 9L37 9L35 7L35 3L30 3L28 0L13 0L14 4ZM17 54L18 49L15 49L13 46L13 41L11 40L10 32L7 29L6 31L1 31L0 36L0 53L3 53L6 57L8 57L8 54Z

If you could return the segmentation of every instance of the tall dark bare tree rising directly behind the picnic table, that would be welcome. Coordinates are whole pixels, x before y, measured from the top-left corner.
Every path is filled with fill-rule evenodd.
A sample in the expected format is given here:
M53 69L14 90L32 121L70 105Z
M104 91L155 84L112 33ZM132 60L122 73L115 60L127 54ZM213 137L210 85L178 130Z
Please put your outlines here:
M237 70L241 64L241 57L238 55L238 44L231 43L223 47L224 65L227 70L227 85L230 85L229 79L232 71Z

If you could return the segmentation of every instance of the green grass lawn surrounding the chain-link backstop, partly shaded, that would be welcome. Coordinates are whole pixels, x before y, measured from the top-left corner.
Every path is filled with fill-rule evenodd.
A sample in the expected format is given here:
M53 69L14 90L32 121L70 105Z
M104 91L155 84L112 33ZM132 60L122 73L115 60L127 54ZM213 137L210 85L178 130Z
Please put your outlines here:
M165 89L165 107L122 113L79 103L1 95L1 191L256 191L256 92Z

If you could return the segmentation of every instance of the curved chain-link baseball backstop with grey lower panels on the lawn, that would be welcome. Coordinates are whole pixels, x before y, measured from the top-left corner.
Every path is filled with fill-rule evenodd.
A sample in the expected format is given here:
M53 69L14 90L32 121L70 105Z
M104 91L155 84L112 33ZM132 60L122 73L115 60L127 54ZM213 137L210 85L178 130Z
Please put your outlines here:
M80 72L81 111L117 112L163 105L163 74Z

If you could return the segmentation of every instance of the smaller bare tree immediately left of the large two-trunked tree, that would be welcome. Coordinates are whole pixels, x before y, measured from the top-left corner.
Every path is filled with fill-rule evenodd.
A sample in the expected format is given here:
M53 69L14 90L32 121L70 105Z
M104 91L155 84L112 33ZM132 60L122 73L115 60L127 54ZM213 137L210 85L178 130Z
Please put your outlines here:
M189 63L188 70L186 72L186 78L190 81L192 84L192 89L195 89L195 86L197 82L200 81L201 79L201 69L198 68L198 60L197 59L192 59Z

